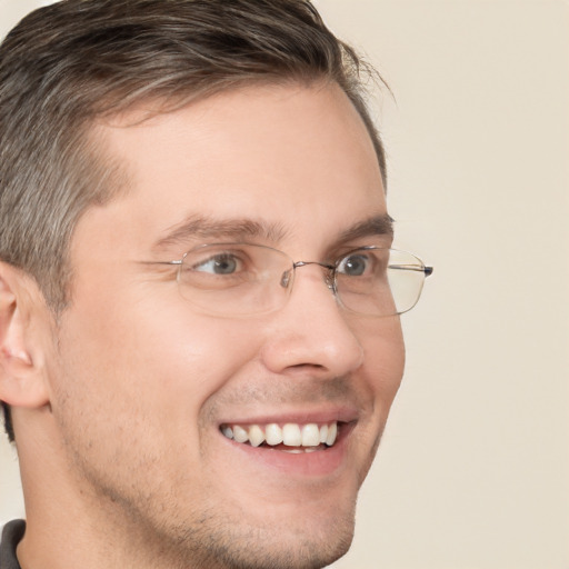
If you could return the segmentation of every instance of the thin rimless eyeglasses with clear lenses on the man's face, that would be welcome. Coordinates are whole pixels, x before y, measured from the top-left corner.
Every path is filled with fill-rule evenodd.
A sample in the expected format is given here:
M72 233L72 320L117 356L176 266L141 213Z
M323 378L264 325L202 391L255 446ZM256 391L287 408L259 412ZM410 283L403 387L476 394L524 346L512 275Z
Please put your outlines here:
M282 308L292 290L297 269L322 269L323 280L338 303L370 317L401 315L421 296L432 273L415 254L396 249L361 247L333 263L293 261L271 247L251 243L203 244L180 260L180 293L199 309L220 316L252 316Z

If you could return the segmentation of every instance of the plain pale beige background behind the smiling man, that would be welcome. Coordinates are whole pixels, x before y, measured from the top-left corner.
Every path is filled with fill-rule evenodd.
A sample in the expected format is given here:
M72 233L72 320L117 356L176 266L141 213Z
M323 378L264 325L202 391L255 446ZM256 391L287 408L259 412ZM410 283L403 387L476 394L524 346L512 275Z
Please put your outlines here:
M0 0L0 34L39 3ZM377 112L397 243L436 266L335 568L568 569L568 3L318 6L396 94ZM22 506L0 452L1 523Z

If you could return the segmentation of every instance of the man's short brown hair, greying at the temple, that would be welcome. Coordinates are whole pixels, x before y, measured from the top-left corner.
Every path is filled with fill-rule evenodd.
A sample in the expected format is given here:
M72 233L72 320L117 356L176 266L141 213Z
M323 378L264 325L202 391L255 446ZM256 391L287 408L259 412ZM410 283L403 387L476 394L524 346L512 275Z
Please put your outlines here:
M89 126L143 100L168 110L248 82L333 81L385 178L362 67L369 78L308 0L62 0L33 11L0 47L0 259L64 309L73 228L120 186Z

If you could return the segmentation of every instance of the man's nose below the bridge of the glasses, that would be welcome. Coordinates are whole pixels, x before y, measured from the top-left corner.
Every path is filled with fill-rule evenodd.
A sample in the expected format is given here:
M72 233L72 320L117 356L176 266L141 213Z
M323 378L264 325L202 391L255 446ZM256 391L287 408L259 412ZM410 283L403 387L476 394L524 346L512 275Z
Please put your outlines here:
M347 319L337 303L322 271L327 267L301 267L287 305L271 317L261 352L263 363L274 373L349 373L363 362L357 319Z

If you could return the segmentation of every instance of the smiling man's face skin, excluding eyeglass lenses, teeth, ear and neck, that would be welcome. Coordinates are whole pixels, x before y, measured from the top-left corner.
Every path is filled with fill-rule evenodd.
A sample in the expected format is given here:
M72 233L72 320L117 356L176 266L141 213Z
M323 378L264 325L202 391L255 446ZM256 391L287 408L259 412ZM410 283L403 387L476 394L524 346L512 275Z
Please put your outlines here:
M48 368L69 491L147 561L160 550L171 567L332 561L400 382L399 319L347 312L313 264L297 269L282 309L211 316L180 295L176 266L142 261L228 240L295 261L388 247L389 234L350 233L386 214L360 118L337 87L291 84L99 130L130 189L88 210L72 240L72 302ZM339 435L288 452L222 432L253 425Z

